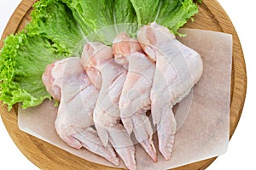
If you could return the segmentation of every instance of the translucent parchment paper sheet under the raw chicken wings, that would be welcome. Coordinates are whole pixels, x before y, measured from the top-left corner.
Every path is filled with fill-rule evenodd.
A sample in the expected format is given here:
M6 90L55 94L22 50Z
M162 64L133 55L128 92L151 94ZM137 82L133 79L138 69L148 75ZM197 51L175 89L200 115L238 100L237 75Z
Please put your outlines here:
M219 156L227 150L230 132L232 37L213 31L181 29L180 32L187 36L178 37L178 39L201 54L204 64L203 76L189 97L183 99L178 106L189 104L190 110L188 115L176 116L179 129L176 133L171 160L165 161L158 152L158 162L154 163L137 144L137 169L179 167ZM191 99L192 102L190 102ZM113 167L100 156L85 149L75 150L62 142L55 133L56 111L57 108L48 100L34 108L19 109L19 127L26 133L55 144L76 156ZM155 136L154 139L156 140ZM120 167L124 167L124 164Z

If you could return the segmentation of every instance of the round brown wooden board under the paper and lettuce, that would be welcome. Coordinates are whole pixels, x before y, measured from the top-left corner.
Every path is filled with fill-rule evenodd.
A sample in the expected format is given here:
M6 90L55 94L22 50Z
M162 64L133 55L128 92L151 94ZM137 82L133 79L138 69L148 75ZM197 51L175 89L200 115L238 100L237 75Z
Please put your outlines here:
M11 33L20 31L30 20L29 14L32 10L32 4L36 0L23 0L15 13L9 20L3 32L0 42L0 48L3 46L3 39ZM200 12L194 17L195 21L184 26L189 28L221 31L233 35L233 68L231 83L231 103L230 103L230 138L235 132L237 123L239 122L241 111L244 105L247 90L247 74L246 65L241 49L239 38L236 30L232 25L229 17L225 14L224 9L216 0L203 0L199 5ZM6 106L0 106L3 123L7 128L9 135L14 140L20 151L36 166L41 169L115 169L113 167L104 167L90 161L85 161L77 156L73 156L64 150L48 144L41 139L37 139L27 133L21 132L17 124L17 108L14 107L10 113ZM173 170L197 170L205 169L212 161L216 159L208 159L198 161L183 167L177 167Z

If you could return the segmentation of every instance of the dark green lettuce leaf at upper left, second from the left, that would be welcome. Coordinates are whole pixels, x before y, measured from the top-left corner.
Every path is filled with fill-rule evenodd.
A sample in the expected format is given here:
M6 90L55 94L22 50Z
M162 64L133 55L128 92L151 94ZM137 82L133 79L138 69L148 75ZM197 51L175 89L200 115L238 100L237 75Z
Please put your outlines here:
M83 32L67 5L56 0L41 0L33 5L28 35L48 38L59 54L77 55L83 46Z

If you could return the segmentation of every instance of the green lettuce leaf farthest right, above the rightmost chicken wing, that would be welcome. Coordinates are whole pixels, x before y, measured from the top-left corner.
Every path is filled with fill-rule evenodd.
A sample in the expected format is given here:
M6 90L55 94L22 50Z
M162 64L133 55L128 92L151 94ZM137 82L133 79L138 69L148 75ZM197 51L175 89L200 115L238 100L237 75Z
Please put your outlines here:
M155 21L169 28L174 34L177 34L177 29L191 16L198 13L193 0L131 0L131 3L140 25L148 25Z

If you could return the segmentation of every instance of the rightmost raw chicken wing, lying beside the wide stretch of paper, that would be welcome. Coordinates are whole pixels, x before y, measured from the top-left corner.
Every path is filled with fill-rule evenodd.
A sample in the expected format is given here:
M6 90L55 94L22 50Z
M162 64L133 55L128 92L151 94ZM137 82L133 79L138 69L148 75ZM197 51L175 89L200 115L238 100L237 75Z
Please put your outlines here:
M151 90L151 112L157 125L159 150L171 158L176 121L172 106L189 94L202 75L201 56L184 46L164 26L151 23L137 34L143 51L156 63Z

